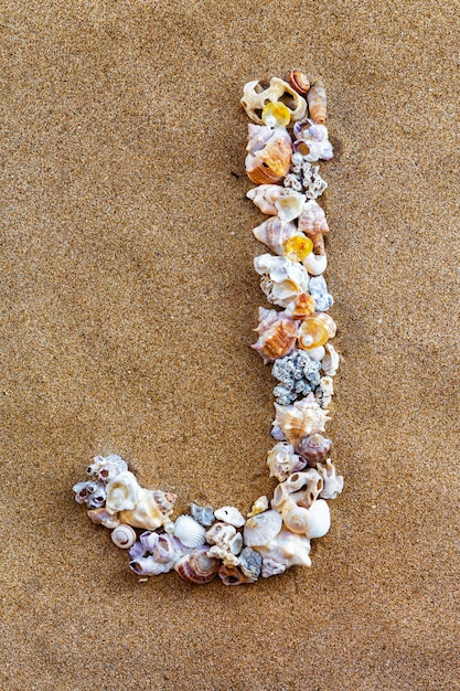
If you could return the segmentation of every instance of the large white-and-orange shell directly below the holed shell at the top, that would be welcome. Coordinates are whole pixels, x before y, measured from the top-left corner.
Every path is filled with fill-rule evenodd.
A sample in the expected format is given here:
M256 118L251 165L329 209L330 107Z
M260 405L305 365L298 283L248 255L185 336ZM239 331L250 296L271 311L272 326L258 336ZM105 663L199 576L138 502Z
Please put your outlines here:
M246 149L246 172L255 184L275 184L289 172L292 141L285 127L249 125Z

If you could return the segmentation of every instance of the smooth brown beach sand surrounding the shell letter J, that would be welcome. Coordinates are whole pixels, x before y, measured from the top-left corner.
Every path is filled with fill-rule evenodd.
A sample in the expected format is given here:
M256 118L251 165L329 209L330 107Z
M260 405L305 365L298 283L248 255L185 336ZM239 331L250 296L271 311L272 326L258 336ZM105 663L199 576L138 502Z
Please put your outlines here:
M8 2L0 688L454 690L458 3ZM139 584L72 485L248 510L272 381L245 200L249 79L322 77L345 491L312 567Z

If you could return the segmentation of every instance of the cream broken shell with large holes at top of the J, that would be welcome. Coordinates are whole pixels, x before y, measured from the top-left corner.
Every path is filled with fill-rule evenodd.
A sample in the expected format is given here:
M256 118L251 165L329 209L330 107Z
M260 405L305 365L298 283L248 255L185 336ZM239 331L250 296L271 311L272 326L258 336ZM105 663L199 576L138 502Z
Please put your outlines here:
M284 82L279 77L271 77L270 86L265 89L257 79L255 82L248 82L243 88L240 103L249 118L260 125L263 120L259 117L259 111L261 111L268 103L279 102L285 94L292 96L293 100L292 107L288 106L290 119L300 120L307 113L307 102L290 84L287 84L287 82Z

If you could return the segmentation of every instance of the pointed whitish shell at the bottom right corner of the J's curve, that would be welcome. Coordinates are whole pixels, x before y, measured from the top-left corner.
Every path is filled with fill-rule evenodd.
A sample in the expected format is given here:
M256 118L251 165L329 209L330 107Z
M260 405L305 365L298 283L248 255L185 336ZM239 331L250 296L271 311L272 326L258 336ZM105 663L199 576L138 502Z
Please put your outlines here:
M264 578L285 573L291 566L311 566L310 540L288 530L281 530L274 540L256 550L263 559Z

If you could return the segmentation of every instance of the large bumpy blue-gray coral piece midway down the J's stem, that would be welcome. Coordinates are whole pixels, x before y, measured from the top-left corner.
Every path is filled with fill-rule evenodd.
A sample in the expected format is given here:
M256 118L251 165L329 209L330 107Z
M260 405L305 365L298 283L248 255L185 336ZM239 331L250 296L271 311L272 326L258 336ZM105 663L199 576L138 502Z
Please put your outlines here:
M321 364L302 350L276 360L271 368L271 374L280 382L274 389L276 402L290 405L314 391L321 379L320 368Z

